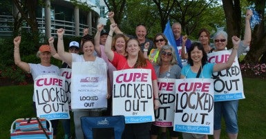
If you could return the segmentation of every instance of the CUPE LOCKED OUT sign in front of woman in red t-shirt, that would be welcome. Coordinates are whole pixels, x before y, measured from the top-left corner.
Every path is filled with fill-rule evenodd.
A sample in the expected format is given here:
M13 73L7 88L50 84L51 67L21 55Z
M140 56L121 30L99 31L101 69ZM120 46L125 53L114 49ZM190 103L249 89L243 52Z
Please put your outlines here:
M125 116L126 123L154 121L151 69L113 72L113 116Z

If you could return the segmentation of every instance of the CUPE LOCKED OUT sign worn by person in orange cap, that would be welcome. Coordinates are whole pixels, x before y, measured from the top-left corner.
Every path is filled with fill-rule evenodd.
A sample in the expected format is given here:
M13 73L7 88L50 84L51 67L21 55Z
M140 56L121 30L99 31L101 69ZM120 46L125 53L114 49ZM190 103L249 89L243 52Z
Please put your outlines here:
M34 81L37 117L48 120L68 119L65 78L53 74L37 76Z

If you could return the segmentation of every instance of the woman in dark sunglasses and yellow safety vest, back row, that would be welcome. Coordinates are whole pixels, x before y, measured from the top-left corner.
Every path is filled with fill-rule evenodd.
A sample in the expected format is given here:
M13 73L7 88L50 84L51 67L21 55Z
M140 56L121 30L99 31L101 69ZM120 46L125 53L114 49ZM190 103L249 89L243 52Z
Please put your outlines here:
M153 39L153 43L155 44L156 48L152 49L150 54L149 54L149 61L151 61L151 63L155 63L157 58L158 58L158 54L162 48L162 46L164 45L168 45L168 40L167 37L162 34L162 33L158 33L155 35L154 39ZM145 49L148 50L149 45L144 45ZM144 56L146 55L145 53L147 52L146 50L144 50Z

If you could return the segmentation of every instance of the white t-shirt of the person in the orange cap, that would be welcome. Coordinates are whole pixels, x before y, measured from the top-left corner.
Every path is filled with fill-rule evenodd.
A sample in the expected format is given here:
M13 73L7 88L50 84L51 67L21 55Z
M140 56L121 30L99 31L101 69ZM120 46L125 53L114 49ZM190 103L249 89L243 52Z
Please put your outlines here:
M29 65L30 65L29 73L32 75L33 81L35 80L35 78L37 78L37 76L40 76L40 75L46 75L46 74L59 75L59 68L55 65L50 65L49 67L46 67L41 64L33 64L33 63L29 63ZM33 102L35 102L34 93L32 96L32 100Z

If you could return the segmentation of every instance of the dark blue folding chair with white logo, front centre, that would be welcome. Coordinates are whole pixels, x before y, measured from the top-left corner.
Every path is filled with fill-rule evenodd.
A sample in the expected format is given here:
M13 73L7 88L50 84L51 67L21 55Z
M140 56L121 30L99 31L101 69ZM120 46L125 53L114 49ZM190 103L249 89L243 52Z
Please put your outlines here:
M81 122L86 139L121 139L125 127L124 116L82 117Z

